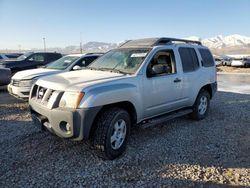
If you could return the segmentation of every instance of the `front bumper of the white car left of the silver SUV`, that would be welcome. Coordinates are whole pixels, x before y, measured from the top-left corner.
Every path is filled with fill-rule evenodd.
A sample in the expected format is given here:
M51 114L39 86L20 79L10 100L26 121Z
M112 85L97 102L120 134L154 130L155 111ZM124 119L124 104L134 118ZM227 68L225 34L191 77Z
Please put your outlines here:
M18 99L28 100L31 87L17 87L11 84L8 85L9 94Z

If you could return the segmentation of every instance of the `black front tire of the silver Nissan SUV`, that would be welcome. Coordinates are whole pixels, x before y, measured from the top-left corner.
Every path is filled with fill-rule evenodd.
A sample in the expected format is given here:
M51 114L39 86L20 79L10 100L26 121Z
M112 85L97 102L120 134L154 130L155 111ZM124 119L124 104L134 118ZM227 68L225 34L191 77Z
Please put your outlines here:
M123 121L125 122L126 133L123 142L120 143L121 145L114 149L115 144L111 144L111 136L114 136L116 133L115 124L119 123L119 121L122 123ZM128 112L118 107L107 109L100 114L96 123L96 130L93 135L92 144L97 152L97 155L103 159L110 160L122 155L127 147L131 126ZM124 131L121 132L123 132L122 134L124 135Z

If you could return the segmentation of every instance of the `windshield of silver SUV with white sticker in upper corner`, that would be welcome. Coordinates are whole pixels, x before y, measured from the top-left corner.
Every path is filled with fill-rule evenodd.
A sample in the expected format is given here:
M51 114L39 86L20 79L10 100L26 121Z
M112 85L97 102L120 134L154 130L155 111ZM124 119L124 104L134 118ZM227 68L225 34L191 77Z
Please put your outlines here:
M133 74L150 49L116 49L109 51L88 66L90 69Z

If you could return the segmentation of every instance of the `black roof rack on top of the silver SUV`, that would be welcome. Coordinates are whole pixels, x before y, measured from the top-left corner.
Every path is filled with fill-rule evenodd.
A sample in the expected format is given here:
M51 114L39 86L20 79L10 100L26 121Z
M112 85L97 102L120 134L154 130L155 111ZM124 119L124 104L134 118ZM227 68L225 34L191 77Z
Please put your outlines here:
M192 44L202 45L200 41L163 37L163 38L146 38L146 39L128 40L125 43L123 43L120 46L120 48L153 47L153 46L158 46L158 45L173 44L173 42L192 43Z

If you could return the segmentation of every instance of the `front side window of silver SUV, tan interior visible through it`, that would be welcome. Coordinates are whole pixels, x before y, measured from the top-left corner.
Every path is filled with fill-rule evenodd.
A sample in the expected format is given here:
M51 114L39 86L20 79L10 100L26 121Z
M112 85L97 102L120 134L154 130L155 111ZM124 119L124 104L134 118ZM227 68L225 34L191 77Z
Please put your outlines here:
M161 76L176 73L175 57L173 50L156 52L147 67L147 76Z

